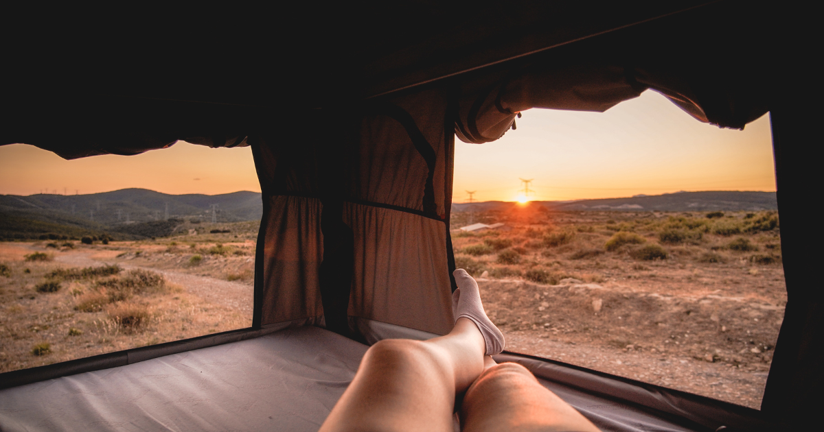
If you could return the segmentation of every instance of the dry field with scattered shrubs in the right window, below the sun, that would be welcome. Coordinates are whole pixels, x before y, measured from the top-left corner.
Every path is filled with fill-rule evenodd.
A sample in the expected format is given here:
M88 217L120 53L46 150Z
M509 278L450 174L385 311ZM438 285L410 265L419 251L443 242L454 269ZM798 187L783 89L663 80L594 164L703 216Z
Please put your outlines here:
M474 218L507 224L452 242L508 350L760 406L786 304L775 212Z

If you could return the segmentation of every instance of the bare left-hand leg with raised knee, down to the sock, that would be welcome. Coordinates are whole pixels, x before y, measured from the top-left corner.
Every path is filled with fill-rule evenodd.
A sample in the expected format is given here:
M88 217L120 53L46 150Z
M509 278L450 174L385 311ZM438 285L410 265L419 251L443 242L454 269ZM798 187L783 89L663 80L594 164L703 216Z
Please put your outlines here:
M455 395L484 370L485 351L484 337L468 318L428 341L379 341L363 356L321 432L452 432Z

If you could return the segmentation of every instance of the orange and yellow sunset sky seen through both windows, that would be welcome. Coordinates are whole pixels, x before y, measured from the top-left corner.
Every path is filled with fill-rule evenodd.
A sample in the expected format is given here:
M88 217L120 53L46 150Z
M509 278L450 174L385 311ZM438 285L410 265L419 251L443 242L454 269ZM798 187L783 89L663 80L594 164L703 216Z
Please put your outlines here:
M744 131L700 123L647 91L606 113L530 109L517 130L483 145L456 140L455 202L513 201L518 178L537 200L703 190L775 191L769 116ZM260 192L251 151L178 142L138 156L63 160L34 146L0 146L0 193L73 194L121 188L162 193Z

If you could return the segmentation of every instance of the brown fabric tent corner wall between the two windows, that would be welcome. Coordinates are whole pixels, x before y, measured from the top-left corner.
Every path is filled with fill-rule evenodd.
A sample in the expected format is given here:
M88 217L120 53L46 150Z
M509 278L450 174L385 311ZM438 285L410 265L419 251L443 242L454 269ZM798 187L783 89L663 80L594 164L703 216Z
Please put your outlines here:
M300 145L250 139L264 194L260 325L322 315L347 333L351 316L449 332L449 95L321 110L302 120Z

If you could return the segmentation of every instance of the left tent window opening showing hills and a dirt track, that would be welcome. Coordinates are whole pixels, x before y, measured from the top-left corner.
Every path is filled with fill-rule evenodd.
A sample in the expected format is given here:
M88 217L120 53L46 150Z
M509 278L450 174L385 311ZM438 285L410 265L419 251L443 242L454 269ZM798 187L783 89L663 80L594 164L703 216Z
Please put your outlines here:
M249 147L0 147L0 372L251 326Z

